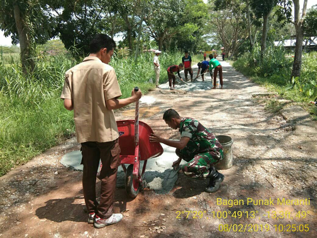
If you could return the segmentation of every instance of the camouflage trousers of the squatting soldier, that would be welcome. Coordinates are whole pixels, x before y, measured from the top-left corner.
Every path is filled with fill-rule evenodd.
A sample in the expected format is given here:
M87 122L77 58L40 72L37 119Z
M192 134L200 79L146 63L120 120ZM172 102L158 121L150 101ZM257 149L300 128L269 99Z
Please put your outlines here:
M184 175L206 179L209 174L209 168L223 159L223 150L207 151L203 153L189 153L185 149L176 149L176 155L185 160L187 163L182 166Z

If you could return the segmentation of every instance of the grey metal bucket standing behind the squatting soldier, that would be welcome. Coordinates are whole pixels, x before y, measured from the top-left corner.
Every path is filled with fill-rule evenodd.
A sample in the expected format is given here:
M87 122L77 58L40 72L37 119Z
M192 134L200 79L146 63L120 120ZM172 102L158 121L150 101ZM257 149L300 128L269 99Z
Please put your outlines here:
M217 140L223 147L223 159L215 165L216 169L229 169L232 167L232 144L230 136L216 136Z

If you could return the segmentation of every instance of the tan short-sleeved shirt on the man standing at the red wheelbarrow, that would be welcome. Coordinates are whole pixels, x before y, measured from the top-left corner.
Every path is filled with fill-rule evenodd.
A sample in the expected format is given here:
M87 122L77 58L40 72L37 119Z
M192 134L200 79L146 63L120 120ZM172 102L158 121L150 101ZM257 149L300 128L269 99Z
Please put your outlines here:
M77 141L109 142L119 137L113 110L106 100L120 97L114 69L89 56L67 70L61 98L72 99Z

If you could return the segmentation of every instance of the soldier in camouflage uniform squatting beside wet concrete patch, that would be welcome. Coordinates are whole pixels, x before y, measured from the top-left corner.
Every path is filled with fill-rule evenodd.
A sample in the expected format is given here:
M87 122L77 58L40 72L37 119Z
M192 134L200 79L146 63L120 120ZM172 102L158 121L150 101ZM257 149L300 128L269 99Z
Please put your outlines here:
M190 117L181 117L174 109L165 111L163 120L170 128L179 129L180 140L172 141L152 134L150 141L175 147L179 158L173 162L172 167L178 167L182 159L185 160L187 163L182 166L184 175L197 179L210 178L205 191L216 192L224 179L224 175L213 167L223 159L222 145L200 122Z

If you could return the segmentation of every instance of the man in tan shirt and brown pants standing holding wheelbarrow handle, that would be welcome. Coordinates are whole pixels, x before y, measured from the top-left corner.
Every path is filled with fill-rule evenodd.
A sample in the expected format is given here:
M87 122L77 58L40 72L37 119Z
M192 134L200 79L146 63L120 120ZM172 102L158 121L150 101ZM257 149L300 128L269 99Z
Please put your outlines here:
M105 34L97 34L89 43L90 54L83 62L65 73L61 98L67 110L74 109L77 142L81 143L83 164L82 187L88 223L101 228L122 220L113 213L118 166L120 165L119 132L113 109L136 102L141 91L131 97L122 94L114 69L108 64L116 43ZM96 175L101 158L100 203L96 200ZM69 213L71 211L68 211Z

